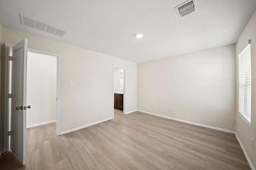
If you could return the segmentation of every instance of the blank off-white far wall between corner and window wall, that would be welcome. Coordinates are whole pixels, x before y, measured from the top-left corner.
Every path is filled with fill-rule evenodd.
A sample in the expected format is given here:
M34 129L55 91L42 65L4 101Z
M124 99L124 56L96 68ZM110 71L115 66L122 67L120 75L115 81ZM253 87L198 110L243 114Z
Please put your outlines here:
M234 131L235 45L138 64L138 110Z

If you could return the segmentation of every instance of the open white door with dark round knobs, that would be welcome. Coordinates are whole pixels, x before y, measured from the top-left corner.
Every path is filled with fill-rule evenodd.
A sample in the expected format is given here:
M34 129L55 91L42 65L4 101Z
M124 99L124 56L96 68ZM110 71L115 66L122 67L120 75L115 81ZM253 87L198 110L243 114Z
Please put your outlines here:
M12 67L10 84L10 149L26 164L26 76L28 40L23 39L10 50ZM29 107L30 108L30 107Z

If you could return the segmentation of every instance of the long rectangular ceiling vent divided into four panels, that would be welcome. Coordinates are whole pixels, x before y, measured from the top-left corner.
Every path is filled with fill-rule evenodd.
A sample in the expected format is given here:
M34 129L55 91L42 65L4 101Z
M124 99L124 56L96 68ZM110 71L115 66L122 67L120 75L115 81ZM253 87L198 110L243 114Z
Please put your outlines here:
M26 25L26 26L29 26L29 27L32 27L35 29L39 29L41 31L52 33L52 34L58 35L60 37L63 37L64 34L66 33L66 31L63 31L61 29L58 29L56 27L53 27L53 26L43 23L41 21L35 20L33 18L24 16L22 14L20 14L20 20L21 20L22 25Z

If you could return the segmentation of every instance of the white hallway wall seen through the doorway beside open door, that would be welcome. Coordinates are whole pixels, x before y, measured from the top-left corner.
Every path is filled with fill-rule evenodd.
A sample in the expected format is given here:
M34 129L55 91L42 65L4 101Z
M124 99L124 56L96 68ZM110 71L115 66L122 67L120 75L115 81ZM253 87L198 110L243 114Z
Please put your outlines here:
M57 57L28 52L27 126L56 121Z

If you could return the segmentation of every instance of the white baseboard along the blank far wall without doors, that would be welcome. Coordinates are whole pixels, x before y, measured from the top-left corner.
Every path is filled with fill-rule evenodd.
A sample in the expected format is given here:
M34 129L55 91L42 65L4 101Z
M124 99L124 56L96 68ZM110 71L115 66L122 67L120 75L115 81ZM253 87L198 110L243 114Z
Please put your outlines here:
M207 128L215 129L215 130L218 130L218 131L224 131L224 132L228 132L228 133L235 133L234 131L230 131L230 130L227 130L227 129L222 129L222 128L219 128L219 127L203 125L203 124L194 123L194 122L191 122L191 121L185 121L185 120L181 120L181 119L176 119L176 118L168 117L168 116L164 116L164 115L158 115L156 113L150 113L148 111L142 111L142 110L138 110L138 111L143 112L143 113L147 113L147 114L150 114L150 115L164 117L166 119L172 119L172 120L181 121L181 122L184 122L184 123L189 123L189 124L192 124L192 125L198 125L198 126L202 126L202 127L207 127Z

